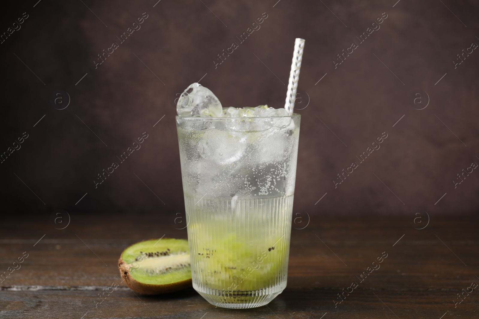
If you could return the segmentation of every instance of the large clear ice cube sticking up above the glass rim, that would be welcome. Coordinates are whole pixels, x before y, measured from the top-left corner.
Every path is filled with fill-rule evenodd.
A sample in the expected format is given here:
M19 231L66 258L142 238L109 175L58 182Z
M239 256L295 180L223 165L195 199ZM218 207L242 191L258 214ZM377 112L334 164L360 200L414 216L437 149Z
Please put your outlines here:
M185 117L221 117L223 108L211 90L193 83L178 99L176 112Z

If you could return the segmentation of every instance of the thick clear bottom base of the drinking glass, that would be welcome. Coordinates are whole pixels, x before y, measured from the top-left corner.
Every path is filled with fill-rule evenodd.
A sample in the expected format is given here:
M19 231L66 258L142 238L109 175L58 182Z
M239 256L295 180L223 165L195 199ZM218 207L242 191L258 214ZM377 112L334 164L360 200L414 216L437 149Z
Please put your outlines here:
M208 292L202 292L196 287L194 289L213 306L233 309L256 308L267 305L284 290L283 288L279 291L273 291L276 289L262 289L231 292L210 289Z

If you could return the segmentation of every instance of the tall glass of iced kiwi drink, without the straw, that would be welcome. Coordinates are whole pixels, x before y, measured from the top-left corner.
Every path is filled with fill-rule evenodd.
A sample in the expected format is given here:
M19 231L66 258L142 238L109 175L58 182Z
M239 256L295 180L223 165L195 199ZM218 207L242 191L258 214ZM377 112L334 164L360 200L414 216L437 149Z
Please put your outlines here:
M222 108L193 84L176 117L193 287L224 308L286 286L300 116Z

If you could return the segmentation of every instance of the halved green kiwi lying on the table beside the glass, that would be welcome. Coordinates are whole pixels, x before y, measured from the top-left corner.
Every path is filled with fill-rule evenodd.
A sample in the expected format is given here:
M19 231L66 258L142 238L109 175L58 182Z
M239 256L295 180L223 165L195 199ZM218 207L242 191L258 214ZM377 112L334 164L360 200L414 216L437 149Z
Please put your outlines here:
M143 295L157 295L191 287L188 241L163 238L137 242L118 260L126 285Z

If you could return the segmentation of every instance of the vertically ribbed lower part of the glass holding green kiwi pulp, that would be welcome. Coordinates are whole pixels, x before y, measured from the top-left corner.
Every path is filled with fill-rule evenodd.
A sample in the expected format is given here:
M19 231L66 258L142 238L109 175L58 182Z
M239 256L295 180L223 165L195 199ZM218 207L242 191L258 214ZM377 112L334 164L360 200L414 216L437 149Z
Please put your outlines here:
M293 195L185 197L193 287L224 308L266 305L286 287Z

